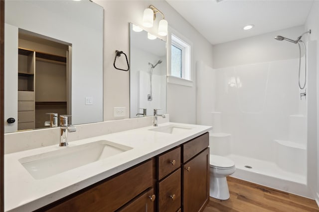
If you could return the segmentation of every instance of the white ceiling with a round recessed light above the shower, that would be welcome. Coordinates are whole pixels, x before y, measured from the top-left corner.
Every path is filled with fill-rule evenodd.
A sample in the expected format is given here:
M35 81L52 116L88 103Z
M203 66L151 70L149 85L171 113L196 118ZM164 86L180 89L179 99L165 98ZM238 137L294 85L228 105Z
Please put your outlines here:
M313 0L166 0L211 44L304 25ZM254 24L251 30L243 30Z

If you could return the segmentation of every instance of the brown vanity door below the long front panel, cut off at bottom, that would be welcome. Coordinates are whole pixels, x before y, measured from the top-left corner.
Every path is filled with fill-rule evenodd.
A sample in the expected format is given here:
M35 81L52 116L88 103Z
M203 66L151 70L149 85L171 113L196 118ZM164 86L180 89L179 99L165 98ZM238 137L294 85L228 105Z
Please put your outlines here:
M154 212L155 199L154 189L150 189L119 210L119 212Z

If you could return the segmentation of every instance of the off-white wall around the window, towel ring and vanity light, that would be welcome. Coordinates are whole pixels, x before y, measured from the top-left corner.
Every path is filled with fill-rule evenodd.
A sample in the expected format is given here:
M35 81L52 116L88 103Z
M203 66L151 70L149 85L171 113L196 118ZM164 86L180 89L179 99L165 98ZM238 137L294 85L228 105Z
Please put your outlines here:
M113 120L114 107L130 106L130 73L113 67L115 50L129 53L129 22L142 26L143 11L150 4L164 13L168 24L193 43L193 61L212 66L212 46L164 0L95 0L104 7L104 120ZM157 24L151 29L156 33ZM193 74L195 63L191 67ZM195 77L194 77L195 79ZM195 123L195 86L167 85L167 113L173 122ZM129 113L126 117L129 118Z

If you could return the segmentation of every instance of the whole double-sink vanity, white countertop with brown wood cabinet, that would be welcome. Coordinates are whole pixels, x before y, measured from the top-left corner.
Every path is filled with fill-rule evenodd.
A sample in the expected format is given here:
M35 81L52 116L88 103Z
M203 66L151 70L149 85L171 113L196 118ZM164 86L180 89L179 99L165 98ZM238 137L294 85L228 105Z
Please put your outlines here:
M20 177L11 174L6 182L6 198L15 195L7 200L6 207L11 208L6 211L202 211L209 201L210 129L165 123L72 141L70 147L79 149L106 141L130 148L52 176L32 174L25 163L32 162L34 155L41 160L52 150L65 147L7 154L6 161L18 169ZM84 158L84 153L81 156ZM52 169L54 166L53 162ZM21 192L16 195L18 188Z

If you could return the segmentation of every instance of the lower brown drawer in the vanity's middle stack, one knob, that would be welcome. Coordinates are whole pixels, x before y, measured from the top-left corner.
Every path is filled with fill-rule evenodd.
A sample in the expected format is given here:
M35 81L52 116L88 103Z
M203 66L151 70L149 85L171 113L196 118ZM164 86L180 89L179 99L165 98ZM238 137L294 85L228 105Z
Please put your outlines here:
M179 168L159 183L159 212L176 212L180 202Z

